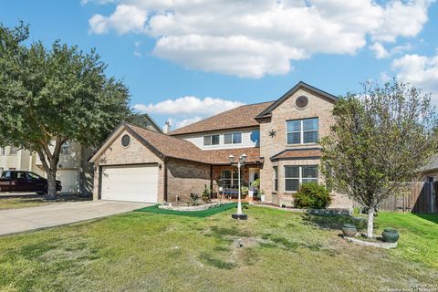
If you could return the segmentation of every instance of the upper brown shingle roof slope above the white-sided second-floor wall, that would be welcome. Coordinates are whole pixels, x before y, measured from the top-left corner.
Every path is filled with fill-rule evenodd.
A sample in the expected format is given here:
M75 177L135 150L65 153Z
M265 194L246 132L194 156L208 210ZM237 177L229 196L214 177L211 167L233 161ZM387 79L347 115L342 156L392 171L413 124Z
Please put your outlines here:
M240 106L183 128L172 130L169 135L183 135L212 130L238 129L258 126L255 117L269 107L273 101Z

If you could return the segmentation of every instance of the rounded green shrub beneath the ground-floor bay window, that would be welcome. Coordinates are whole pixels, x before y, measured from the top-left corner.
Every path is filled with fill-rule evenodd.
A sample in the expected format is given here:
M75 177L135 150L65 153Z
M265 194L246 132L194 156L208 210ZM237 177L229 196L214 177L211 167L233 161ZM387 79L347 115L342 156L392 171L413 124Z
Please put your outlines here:
M325 209L331 203L330 194L323 185L303 183L294 194L297 208Z

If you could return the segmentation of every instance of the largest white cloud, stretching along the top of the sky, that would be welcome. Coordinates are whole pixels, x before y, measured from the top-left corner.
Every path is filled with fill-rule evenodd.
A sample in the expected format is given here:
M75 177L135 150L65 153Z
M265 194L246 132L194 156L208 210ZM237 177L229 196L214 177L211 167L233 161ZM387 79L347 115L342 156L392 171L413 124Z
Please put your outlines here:
M102 1L102 0L101 0ZM314 54L356 54L367 46L417 36L433 0L120 0L110 16L90 18L90 31L144 33L153 53L187 68L239 77L286 74Z

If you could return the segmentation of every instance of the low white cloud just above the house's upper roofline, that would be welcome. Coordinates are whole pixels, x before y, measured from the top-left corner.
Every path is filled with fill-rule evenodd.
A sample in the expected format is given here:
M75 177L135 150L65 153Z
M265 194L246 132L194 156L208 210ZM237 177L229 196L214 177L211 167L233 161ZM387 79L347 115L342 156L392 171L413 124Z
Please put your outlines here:
M203 120L225 110L231 110L243 105L240 101L227 99L204 98L186 96L179 99L167 99L148 105L136 104L134 110L149 114L169 117L171 125L181 128L198 120Z

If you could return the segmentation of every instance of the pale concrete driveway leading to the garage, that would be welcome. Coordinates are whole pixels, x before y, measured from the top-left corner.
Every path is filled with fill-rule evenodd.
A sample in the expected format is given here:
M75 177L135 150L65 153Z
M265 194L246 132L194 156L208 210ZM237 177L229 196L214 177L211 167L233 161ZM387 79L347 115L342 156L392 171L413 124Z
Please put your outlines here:
M0 210L0 235L106 217L147 207L147 203L115 201L66 202L43 206Z

